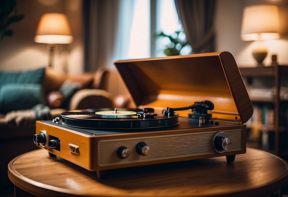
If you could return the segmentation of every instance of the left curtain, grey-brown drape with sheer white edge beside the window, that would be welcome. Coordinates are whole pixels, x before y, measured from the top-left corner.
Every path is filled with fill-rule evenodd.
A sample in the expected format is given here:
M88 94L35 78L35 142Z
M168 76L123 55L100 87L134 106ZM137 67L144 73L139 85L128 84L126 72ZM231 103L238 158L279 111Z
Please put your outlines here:
M149 0L84 0L84 69L150 57Z

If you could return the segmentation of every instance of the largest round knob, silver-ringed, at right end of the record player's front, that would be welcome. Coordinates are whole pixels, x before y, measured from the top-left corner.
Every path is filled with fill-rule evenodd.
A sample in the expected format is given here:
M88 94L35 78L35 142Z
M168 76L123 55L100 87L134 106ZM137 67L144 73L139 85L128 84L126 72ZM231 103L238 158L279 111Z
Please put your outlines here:
M223 131L217 132L212 138L212 148L216 152L224 152L231 147L231 140L228 139L226 133Z

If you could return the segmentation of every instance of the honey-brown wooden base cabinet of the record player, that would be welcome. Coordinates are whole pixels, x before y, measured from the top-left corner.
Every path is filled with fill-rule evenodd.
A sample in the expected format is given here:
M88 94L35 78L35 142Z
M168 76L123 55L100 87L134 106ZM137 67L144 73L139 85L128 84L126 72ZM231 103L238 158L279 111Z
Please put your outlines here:
M187 121L187 119L185 120ZM181 124L182 123L185 122L181 122ZM36 133L39 134L41 130L45 130L47 132L48 140L50 140L50 136L60 138L60 146L61 146L60 152L51 149L48 146L45 148L46 150L68 161L71 161L81 167L84 167L85 169L88 169L90 171L124 168L139 165L150 165L157 163L167 163L171 161L174 162L174 161L185 161L192 159L203 159L210 157L220 157L233 154L243 154L246 152L246 125L242 124L222 125L215 127L213 126L213 127L193 128L193 129L160 130L160 131L157 130L149 132L131 132L131 133L124 132L122 134L107 134L107 135L93 136L84 134L82 132L77 132L68 128L63 128L58 125L52 125L43 121L36 121ZM233 133L236 130L242 130L242 133L240 132L240 134L238 135L233 135ZM216 133L218 131L225 131L228 133L232 133L231 135L227 133L228 137L231 138L230 140L232 140L232 147L230 150L225 151L223 153L217 153L212 150L211 145L212 136L213 133ZM197 133L199 133L199 135ZM210 134L209 136L204 137L206 133ZM180 146L179 144L177 144L177 140L181 139L184 140L185 139L184 134L192 136L197 135L197 136L194 137L194 140L187 139ZM167 143L168 142L167 139L166 143L164 143L164 140L162 141L160 140L160 137L168 137L168 136L173 136L171 137L173 139L170 140L170 143ZM137 139L143 138L143 140L141 141L147 142L147 145L150 147L151 153L149 153L147 157L139 157L140 155L136 153L136 151L134 151L135 146L139 142L141 142L140 140L135 141L134 139L136 138ZM149 143L148 141L144 140L148 138L150 138ZM101 148L101 146L99 146L102 140L111 142L108 144L109 148L106 147ZM159 145L159 142L162 142L162 144ZM194 146L192 145L192 142L194 143ZM79 146L79 155L71 153L68 150L68 144L75 144L76 146ZM119 157L117 156L118 148L120 146L127 146L127 144L129 144L128 148L132 151L131 152L132 154L128 159L119 159ZM194 150L190 150L187 148L185 149L185 144L188 144L188 146L190 148L194 148ZM237 144L238 146L234 147ZM167 147L170 146L170 148L163 148L161 147L161 145ZM177 147L171 148L171 146L177 146ZM41 148L44 147L42 146ZM179 153L173 155L173 152L177 149L181 150L181 155L179 155ZM159 154L155 154L157 153L155 152L157 150ZM164 153L161 152L163 150L165 150L166 152ZM156 157L156 155L158 155L159 157ZM101 157L103 156L106 157L106 159L103 158L101 159ZM150 158L150 156L152 156L152 158ZM143 160L139 162L141 158ZM150 158L150 160L149 159L146 160L145 158ZM128 160L131 162L125 162Z

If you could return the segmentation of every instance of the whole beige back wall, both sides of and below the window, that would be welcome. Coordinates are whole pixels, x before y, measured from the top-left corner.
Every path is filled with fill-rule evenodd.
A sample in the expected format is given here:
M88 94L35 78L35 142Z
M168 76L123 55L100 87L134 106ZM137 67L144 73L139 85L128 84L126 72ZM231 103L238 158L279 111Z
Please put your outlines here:
M268 46L268 57L264 64L270 65L272 53L277 54L278 63L288 65L288 0L217 0L215 13L216 51L231 52L239 66L255 66L252 56L253 41L242 41L240 30L242 11L247 5L273 3L281 8L282 36L278 40L265 41ZM55 68L67 67L69 73L83 72L84 49L82 32L81 0L18 0L18 13L25 18L12 24L13 37L5 37L0 41L0 70L25 70L47 65L47 44L35 43L34 34L39 19L46 12L66 13L73 33L73 43L58 45L56 48ZM121 78L115 70L111 75L109 91L113 94L126 92Z

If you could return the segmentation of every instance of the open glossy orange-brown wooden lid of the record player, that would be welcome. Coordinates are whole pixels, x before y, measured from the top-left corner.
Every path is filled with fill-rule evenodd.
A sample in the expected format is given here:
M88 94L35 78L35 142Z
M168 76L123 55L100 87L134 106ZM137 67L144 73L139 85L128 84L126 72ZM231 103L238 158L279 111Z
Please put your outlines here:
M212 118L245 123L252 103L233 55L203 53L116 61L137 106L155 109L186 107L194 102L214 103ZM188 117L191 111L177 111Z

